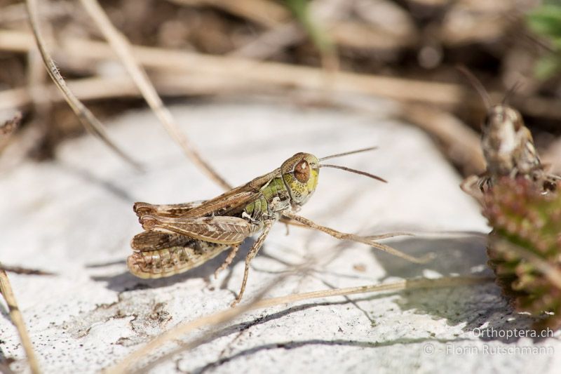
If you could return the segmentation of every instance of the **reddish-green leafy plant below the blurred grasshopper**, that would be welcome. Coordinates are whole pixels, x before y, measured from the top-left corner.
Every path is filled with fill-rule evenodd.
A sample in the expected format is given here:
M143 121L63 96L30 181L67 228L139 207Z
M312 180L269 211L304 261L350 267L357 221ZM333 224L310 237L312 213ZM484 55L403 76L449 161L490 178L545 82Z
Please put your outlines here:
M496 283L518 312L543 316L536 328L560 328L561 194L502 178L485 194L484 215L493 227L487 255Z

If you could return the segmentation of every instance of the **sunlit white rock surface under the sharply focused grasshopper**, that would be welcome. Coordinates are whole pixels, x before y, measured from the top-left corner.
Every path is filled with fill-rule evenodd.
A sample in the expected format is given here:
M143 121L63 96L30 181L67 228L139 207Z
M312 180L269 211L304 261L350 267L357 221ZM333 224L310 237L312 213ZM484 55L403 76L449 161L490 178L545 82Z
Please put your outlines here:
M427 135L381 116L267 102L208 102L173 108L203 156L235 185L278 167L296 152L325 156L379 145L332 163L376 173L387 185L322 169L301 215L346 232L418 234L386 241L415 265L364 245L297 227L273 227L253 260L245 302L302 262L268 296L390 282L415 276L489 274L485 220L458 185L459 175ZM241 284L243 246L214 279L227 253L168 279L128 273L130 238L140 232L134 201L178 203L221 191L165 134L150 112L124 114L111 135L146 166L135 173L90 137L70 140L55 161L27 162L0 175L0 260L54 276L10 274L46 373L95 373L182 321L229 307ZM555 373L555 338L481 336L527 330L492 283L353 295L257 310L218 328L210 342L156 366L154 373ZM488 331L488 330L485 330ZM195 333L200 335L201 331ZM489 334L490 335L490 334ZM188 335L193 338L195 335ZM532 350L534 349L534 350ZM537 349L537 350L536 350ZM0 355L26 371L6 308Z

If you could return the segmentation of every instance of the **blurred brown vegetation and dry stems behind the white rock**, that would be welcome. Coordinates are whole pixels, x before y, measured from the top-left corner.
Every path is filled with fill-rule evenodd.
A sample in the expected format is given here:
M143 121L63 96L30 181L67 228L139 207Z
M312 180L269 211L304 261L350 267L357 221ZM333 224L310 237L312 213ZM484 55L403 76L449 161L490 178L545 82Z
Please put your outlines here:
M356 109L358 96L390 98L400 105L396 115L430 133L467 175L482 171L475 152L485 107L459 74L461 65L494 102L515 87L508 100L522 112L541 154L556 167L561 159L561 0L100 4L131 44L148 47L135 48L135 57L168 103L266 95ZM146 106L79 1L39 1L39 14L62 76L95 114L104 119ZM36 53L25 4L4 0L0 119L17 111L22 125L0 144L17 145L2 156L10 164L50 159L62 139L82 132Z

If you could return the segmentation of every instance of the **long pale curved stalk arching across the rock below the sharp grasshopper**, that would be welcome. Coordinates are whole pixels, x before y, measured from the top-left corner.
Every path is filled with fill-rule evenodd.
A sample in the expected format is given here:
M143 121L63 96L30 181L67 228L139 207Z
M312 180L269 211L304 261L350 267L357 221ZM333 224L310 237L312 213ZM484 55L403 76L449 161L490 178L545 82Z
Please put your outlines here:
M253 309L262 309L266 307L274 307L277 305L285 305L293 302L299 302L302 300L311 300L316 298L329 298L333 296L345 296L345 295L355 295L357 293L372 293L372 292L387 292L396 290L410 290L417 288L440 288L440 287L454 287L454 286L469 286L479 283L492 282L494 279L488 276L455 276L455 277L444 277L440 279L405 279L403 281L398 281L395 283L386 284L373 284L367 286L349 287L349 288L335 288L330 290L318 290L308 293L298 293L295 295L280 296L278 298L270 298L265 300L257 300L250 304L241 305L236 308L223 310L222 312L217 312L210 314L208 316L203 316L194 321L184 322L180 325L175 326L172 330L168 330L165 333L159 335L154 340L151 340L147 345L138 349L136 352L129 354L120 363L108 370L105 370L107 374L116 373L127 373L130 372L133 366L136 366L139 361L146 359L152 352L156 349L162 347L163 345L171 342L173 340L180 339L183 335L189 333L196 328L201 328L204 326L214 326L219 323L224 323L236 318L245 312ZM173 352L165 354L165 356L158 359L158 363L163 361L163 359L168 359L173 354L177 354L184 349L189 349L196 345L196 342L203 342L208 338L208 334L205 337L197 339L194 342L182 345L180 349L175 349ZM194 344L195 343L195 344ZM152 366L153 363L150 364ZM138 368L135 368L138 370Z

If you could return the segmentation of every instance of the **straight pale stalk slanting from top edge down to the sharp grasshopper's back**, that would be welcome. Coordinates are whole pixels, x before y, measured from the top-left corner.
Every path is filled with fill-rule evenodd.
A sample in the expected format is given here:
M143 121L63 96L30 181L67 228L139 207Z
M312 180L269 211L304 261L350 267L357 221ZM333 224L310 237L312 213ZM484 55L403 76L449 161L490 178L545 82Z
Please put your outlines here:
M171 112L167 107L163 105L163 101L156 92L156 88L151 84L150 79L146 71L140 66L140 64L133 57L133 53L130 47L129 41L126 39L118 29L114 27L111 20L107 17L103 8L97 2L97 0L81 0L81 3L91 18L100 28L105 39L109 41L111 48L119 56L121 62L127 69L130 77L133 79L138 89L144 96L144 100L148 103L154 114L163 124L165 131L168 131L171 138L177 142L178 145L183 149L183 152L187 157L205 173L211 180L217 183L220 187L224 189L231 189L224 178L222 178L209 164L205 161L200 154L196 151L194 146L187 138L187 135L182 133L179 126L175 122Z

